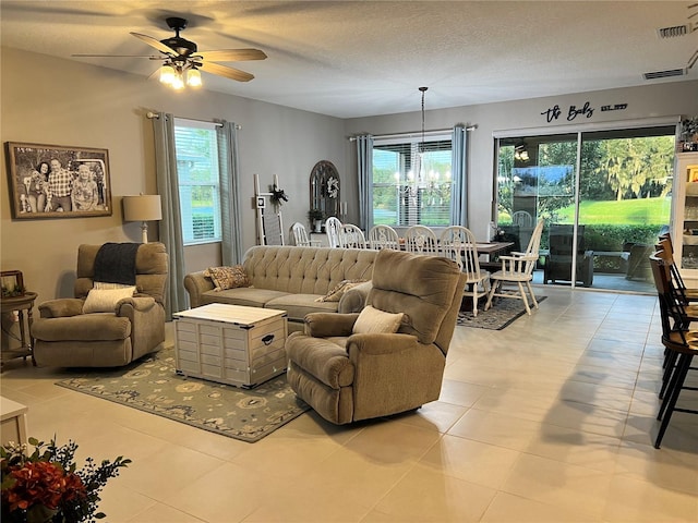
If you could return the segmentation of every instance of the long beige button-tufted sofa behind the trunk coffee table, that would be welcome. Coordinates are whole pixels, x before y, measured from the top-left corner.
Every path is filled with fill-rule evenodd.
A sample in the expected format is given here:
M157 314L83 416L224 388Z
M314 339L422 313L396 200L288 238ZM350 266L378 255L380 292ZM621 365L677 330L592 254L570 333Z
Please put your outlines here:
M371 289L377 251L328 247L257 245L243 257L251 287L214 290L204 271L184 277L190 305L228 303L278 308L288 313L289 332L303 330L310 313L353 313L363 308ZM345 280L366 280L342 294L338 302L318 302Z

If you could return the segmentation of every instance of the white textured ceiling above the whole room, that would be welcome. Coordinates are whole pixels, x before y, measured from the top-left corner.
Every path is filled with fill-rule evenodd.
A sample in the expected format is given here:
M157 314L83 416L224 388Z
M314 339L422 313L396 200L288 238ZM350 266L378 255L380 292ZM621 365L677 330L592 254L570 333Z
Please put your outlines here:
M205 88L339 118L554 96L650 83L642 73L685 69L698 31L693 1L8 1L3 47L143 75L157 54L129 35L172 36L165 17L189 19L182 37L200 50L253 47L267 60L227 63L238 83L204 73ZM155 82L155 80L149 80ZM165 87L164 87L165 88ZM698 96L698 94L697 94Z

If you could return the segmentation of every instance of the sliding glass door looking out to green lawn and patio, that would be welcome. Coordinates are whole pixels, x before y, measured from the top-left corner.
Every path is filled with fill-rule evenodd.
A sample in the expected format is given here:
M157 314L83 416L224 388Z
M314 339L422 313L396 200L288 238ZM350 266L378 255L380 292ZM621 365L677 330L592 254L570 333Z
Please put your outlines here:
M651 291L669 229L675 126L498 141L497 229L526 248L545 221L534 281Z

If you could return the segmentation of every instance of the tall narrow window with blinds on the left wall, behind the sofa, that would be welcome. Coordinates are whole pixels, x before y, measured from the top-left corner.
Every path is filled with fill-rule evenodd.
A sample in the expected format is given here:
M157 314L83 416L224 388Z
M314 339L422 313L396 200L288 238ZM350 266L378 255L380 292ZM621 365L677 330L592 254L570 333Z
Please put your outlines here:
M174 148L184 245L219 242L220 177L215 125L176 119Z

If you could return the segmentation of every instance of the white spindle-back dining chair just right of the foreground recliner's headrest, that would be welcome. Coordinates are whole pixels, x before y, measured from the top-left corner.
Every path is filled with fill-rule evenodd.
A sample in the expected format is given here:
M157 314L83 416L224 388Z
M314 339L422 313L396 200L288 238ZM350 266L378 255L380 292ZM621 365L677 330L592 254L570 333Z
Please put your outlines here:
M480 270L476 236L469 229L450 226L440 236L441 255L450 258L466 275L464 294L472 296L472 315L478 316L478 300L490 292L490 272Z

